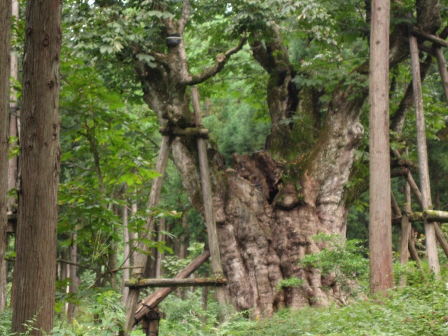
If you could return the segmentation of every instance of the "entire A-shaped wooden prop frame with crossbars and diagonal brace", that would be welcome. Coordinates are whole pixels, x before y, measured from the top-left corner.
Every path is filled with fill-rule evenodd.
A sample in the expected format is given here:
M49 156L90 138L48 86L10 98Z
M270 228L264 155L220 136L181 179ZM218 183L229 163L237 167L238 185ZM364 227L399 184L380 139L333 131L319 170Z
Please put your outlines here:
M209 251L204 251L199 257L197 257L193 262L190 263L185 269L183 269L179 274L177 274L174 279L141 279L138 272L137 276L133 276L133 279L127 281L125 286L130 287L130 294L128 296L128 301L133 300L132 304L128 304L127 309L130 309L130 314L133 314L135 303L137 303L137 298L139 296L139 288L141 287L165 287L155 290L154 293L146 297L142 302L137 305L135 309L135 314L128 316L127 329L132 328L133 325L137 325L142 322L144 330L146 330L146 335L158 335L158 319L159 314L156 311L157 306L162 300L172 293L176 287L179 286L216 286L216 299L221 311L221 318L227 318L227 300L225 297L225 290L222 287L225 285L226 280L223 277L223 267L221 265L221 254L219 251L218 244L218 233L216 231L216 223L213 214L213 204L212 204L212 194L211 194L211 183L210 183L210 172L209 172L209 162L207 158L207 143L206 139L208 137L208 130L202 128L202 112L200 111L200 101L199 94L196 87L191 89L193 97L193 109L195 111L195 124L196 127L189 128L171 128L171 129L161 129L160 132L164 134L164 140L162 141L162 146L160 149L160 155L158 160L158 165L160 167L157 169L160 175L163 176L165 173L166 160L168 156L169 147L171 144L171 139L173 137L196 137L197 138L197 151L199 153L199 163L200 163L200 178L202 186L202 199L204 202L204 220L207 226L207 234L209 236ZM165 144L165 145L164 145ZM165 164L160 163L165 160ZM158 197L160 195L160 188L162 186L162 176L158 177L153 183L153 188L151 188L150 201L148 202L151 207L156 207L158 204ZM153 218L148 220L147 225L148 232L151 234L153 230ZM200 267L206 260L211 258L211 270L214 274L213 278L206 279L185 279L190 274L195 272L195 270ZM146 264L146 255L139 255L139 262L137 266L142 266Z

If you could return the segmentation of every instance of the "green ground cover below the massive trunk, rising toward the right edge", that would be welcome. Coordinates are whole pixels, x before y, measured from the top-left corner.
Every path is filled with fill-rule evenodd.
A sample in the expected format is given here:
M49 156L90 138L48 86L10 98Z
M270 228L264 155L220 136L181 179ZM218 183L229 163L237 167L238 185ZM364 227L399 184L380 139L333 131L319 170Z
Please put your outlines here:
M217 325L194 298L169 300L160 335L448 335L446 284L428 280L394 288L377 300L356 300L344 307L283 309L274 317L249 321L234 314ZM202 322L207 315L208 323Z

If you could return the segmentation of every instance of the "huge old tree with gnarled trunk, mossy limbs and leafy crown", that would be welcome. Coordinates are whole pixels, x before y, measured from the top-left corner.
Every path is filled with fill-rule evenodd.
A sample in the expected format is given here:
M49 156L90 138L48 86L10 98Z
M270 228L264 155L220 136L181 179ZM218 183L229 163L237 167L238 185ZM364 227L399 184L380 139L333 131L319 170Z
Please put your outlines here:
M319 232L345 235L352 198L349 197L352 190L346 186L364 134L360 114L368 95L368 60L339 78L332 92L325 92L318 84L298 85L297 78L307 80L315 73L302 69L300 59L291 61L290 49L283 43L284 30L275 18L288 13L294 13L291 17L307 18L300 4L228 1L223 8L216 9L218 5L214 2L192 4L186 0L180 6L178 1L153 1L151 10L140 4L134 11L128 8L113 12L125 18L138 13L139 20L143 20L146 17L142 13L148 10L147 17L153 19L152 23L139 22L138 26L145 27L153 36L146 40L133 36L127 41L129 48L124 48L120 57L133 55L144 100L169 134L176 127L194 126L188 87L215 76L232 55L248 44L253 58L268 75L265 90L272 126L266 150L235 156L235 164L230 169L217 148L209 148L214 211L232 303L237 309L253 309L254 315L269 316L280 307L324 305L339 300L335 279L298 262L304 255L316 253L325 246L312 238ZM309 3L315 5L320 1ZM192 8L201 4L204 7ZM339 5L332 9L337 10ZM367 41L370 1L359 1L357 5L353 8L360 15L344 13L339 19L351 20L351 14L359 15L365 31L358 31L358 38ZM190 27L190 21L204 22L201 13L205 12L201 9L217 16L226 13L224 18L232 25L228 34L234 37L234 44L229 42L228 51L213 56L216 57L213 64L193 73L181 37L186 27ZM302 14L297 16L297 13ZM404 22L407 9L395 3L393 18L396 19L393 22ZM435 33L440 22L439 1L416 1L414 24L419 29ZM325 23L323 20L322 25ZM302 36L302 48L311 48L312 29L300 25L299 20L293 28L311 31L311 35ZM405 38L407 23L395 24L391 31L388 59L393 68L409 55ZM179 43L176 43L178 36ZM165 45L167 37L169 46ZM328 100L321 99L324 96ZM398 123L402 123L404 116L402 113L397 117ZM301 122L304 119L307 123ZM172 156L191 202L202 213L195 139L174 137ZM304 279L304 285L276 288L279 281L290 277Z

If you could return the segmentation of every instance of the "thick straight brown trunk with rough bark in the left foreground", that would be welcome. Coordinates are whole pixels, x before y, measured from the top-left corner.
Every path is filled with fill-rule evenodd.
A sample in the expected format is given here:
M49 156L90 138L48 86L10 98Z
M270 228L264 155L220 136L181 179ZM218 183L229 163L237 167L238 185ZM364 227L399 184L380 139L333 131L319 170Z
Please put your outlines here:
M27 1L13 332L50 332L55 315L62 1Z

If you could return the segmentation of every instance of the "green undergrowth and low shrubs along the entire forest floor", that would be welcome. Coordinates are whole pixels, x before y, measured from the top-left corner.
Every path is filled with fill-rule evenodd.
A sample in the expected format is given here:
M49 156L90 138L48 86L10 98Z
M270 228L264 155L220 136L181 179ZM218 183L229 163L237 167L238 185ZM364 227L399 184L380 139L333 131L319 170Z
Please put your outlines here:
M325 237L323 237L325 238ZM327 237L328 238L328 237ZM318 239L318 237L316 237ZM448 335L448 270L442 267L441 280L423 274L415 265L395 265L396 283L405 275L407 286L393 288L384 297L368 297L368 263L359 241L340 244L333 239L332 248L302 261L311 262L322 272L339 274L341 286L346 285L344 306L283 309L272 318L250 320L250 312L233 312L230 319L218 323L218 307L209 293L207 311L202 307L202 291L189 292L185 299L174 294L160 304L164 312L160 336L288 336L288 335ZM356 253L358 251L358 253ZM339 260L339 262L335 262ZM351 262L350 262L351 260ZM444 260L444 259L442 259ZM446 265L444 262L443 265ZM335 268L336 267L336 268ZM356 277L356 290L349 293L347 279ZM345 281L345 282L344 282ZM290 286L300 286L300 283ZM295 283L295 284L294 284ZM286 285L288 281L286 281ZM283 284L282 286L285 286ZM93 323L98 314L99 323ZM0 335L10 335L11 312L0 313ZM92 290L78 298L77 316L69 323L59 313L53 335L94 336L120 335L125 312L116 290ZM29 331L33 321L27 323ZM23 335L31 335L29 332ZM132 336L144 335L135 330Z

